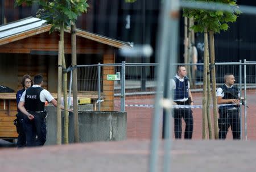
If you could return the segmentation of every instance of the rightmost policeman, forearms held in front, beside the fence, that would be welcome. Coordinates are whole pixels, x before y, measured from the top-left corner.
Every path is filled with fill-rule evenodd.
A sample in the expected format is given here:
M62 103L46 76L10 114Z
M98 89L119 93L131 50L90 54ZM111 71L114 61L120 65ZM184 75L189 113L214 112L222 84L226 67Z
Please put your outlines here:
M231 126L233 139L240 139L240 91L234 86L235 79L232 73L225 74L224 81L224 85L217 89L217 103L233 105L220 106L218 108L220 114L218 137L219 139L226 139L226 134Z

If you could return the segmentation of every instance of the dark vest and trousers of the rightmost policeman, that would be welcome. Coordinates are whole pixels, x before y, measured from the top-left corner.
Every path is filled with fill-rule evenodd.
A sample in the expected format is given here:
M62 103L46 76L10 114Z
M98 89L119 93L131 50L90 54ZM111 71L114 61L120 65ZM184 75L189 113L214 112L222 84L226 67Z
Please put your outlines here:
M222 85L221 89L224 93L223 99L237 99L238 94L240 93L236 86L226 87ZM218 108L218 113L220 118L218 119L218 132L219 139L226 139L226 134L228 133L229 126L232 129L233 139L240 139L240 115L239 115L239 106L230 105L223 106Z

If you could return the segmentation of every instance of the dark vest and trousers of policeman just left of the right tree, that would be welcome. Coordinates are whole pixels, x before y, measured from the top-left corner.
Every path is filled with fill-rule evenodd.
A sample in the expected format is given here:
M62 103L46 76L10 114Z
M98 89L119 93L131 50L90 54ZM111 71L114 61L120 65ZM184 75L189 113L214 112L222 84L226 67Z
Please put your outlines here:
M176 89L174 90L174 102L178 105L190 105L190 98L188 97L188 77L184 77L183 82L174 77L174 81L176 83ZM188 98L185 102L176 101L179 99ZM193 133L193 115L191 108L179 108L174 109L174 133L176 139L181 139L182 132L182 121L185 121L185 133L184 139L192 139Z

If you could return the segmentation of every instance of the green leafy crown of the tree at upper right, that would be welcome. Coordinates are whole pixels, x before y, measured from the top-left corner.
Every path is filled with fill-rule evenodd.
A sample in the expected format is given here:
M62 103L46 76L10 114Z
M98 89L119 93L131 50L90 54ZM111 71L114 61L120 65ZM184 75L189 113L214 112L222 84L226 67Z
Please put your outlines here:
M192 29L195 32L204 32L204 28L208 31L214 31L214 33L220 33L220 31L227 31L229 22L236 22L237 16L241 14L238 9L236 0L192 0L195 2L208 2L208 3L223 3L230 6L230 11L213 11L204 9L183 9L183 16L193 18L195 25Z

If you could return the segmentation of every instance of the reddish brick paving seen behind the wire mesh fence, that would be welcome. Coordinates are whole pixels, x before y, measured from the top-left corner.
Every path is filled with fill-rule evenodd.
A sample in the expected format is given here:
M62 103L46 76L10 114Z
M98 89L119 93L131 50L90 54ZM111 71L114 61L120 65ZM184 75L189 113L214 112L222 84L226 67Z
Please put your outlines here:
M247 90L247 139L256 140L256 90ZM202 104L202 93L192 93L195 105ZM242 93L243 96L243 93ZM126 104L151 104L154 105L154 95L134 95L126 97ZM119 110L120 100L115 98L115 110ZM154 113L154 108L148 107L126 107L127 111L127 138L128 139L150 139L151 136L151 124L152 124L152 114ZM242 111L244 114L244 112ZM193 109L193 119L194 119L194 130L193 130L193 140L202 139L202 110L200 108ZM213 112L211 112L213 116ZM162 112L159 112L160 118L162 118ZM244 116L244 115L242 115ZM244 117L243 121L243 138L244 138ZM162 124L162 123L161 123ZM172 121L173 124L173 121ZM212 118L213 124L213 118ZM183 131L185 125L183 121ZM212 125L213 129L213 125ZM160 129L162 130L162 128ZM184 134L184 132L183 132ZM232 132L229 128L227 135L228 140L232 140Z

